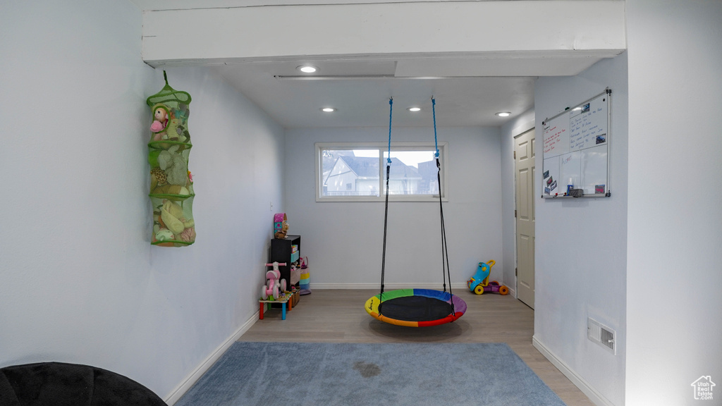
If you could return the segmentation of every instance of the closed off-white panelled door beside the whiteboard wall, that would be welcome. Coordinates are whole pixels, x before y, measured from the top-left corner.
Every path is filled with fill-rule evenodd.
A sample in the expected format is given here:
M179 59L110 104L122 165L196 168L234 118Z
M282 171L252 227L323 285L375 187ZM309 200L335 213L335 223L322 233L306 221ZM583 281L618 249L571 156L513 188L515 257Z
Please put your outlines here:
M516 294L534 308L534 129L514 137Z

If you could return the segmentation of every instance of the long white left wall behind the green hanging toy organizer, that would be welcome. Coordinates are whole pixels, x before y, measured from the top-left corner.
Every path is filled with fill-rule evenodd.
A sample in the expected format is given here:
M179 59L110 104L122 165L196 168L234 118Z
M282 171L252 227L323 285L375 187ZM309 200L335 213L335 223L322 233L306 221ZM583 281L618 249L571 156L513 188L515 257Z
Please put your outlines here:
M257 311L283 130L209 70L169 70L193 96L198 238L151 246L164 83L141 23L129 1L0 7L0 366L85 363L168 398Z

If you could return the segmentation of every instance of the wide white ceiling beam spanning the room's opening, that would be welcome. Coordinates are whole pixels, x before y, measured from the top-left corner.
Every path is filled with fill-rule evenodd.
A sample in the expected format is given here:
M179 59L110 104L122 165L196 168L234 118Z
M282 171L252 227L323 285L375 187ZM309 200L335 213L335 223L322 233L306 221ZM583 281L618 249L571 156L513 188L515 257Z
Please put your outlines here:
M613 57L627 46L625 2L618 0L146 11L142 41L151 66L389 55L588 59Z

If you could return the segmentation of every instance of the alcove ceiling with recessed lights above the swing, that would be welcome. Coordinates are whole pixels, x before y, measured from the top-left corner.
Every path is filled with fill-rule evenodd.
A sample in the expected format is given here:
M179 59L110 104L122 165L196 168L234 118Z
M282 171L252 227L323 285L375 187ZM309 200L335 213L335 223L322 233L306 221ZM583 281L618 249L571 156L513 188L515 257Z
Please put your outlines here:
M296 67L303 62L212 69L285 128L388 126L390 98L394 126L432 126L432 96L438 126L500 126L508 118L495 113L534 105L533 77L395 77L393 59L313 61L318 72L302 74ZM406 110L412 106L422 110Z

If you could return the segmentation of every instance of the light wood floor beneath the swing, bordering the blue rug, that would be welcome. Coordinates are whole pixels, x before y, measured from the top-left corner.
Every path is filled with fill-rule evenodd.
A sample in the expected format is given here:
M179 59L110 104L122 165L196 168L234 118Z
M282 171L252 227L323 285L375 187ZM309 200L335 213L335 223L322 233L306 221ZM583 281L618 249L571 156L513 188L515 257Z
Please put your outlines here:
M456 294L456 291L454 292ZM464 294L464 293L469 293ZM511 295L461 292L469 307L454 323L436 327L399 327L369 316L364 303L374 290L313 290L281 320L281 310L239 341L264 342L505 342L569 406L593 403L533 345L534 311Z

